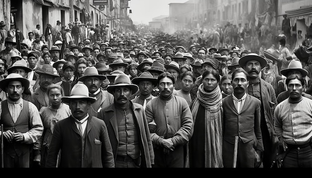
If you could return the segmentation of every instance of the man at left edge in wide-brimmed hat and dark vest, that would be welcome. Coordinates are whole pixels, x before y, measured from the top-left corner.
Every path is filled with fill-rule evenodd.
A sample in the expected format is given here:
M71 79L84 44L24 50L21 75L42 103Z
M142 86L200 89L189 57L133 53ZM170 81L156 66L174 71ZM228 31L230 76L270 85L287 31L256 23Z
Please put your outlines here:
M29 81L11 73L0 81L0 89L7 92L0 102L0 124L3 124L3 167L29 168L33 143L41 137L43 125L36 106L21 95L29 88Z

